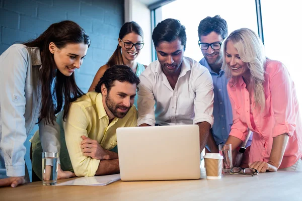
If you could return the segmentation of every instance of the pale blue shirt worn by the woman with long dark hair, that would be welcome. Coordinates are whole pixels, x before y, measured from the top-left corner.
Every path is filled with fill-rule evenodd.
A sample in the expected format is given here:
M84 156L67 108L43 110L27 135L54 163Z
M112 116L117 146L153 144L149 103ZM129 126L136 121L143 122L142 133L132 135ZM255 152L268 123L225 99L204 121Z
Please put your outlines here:
M0 56L0 178L24 176L24 142L41 108L41 56L38 47L15 44ZM43 151L58 152L59 127L39 123Z

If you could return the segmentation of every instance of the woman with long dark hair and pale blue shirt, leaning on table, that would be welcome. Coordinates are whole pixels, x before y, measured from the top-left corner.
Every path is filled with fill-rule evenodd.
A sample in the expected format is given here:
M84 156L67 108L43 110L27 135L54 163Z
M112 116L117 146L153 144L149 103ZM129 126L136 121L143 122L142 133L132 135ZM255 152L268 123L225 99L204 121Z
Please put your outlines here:
M52 24L37 39L14 44L0 56L0 186L26 181L23 145L36 123L43 151L58 152L55 114L84 93L74 70L80 68L90 38L72 21Z

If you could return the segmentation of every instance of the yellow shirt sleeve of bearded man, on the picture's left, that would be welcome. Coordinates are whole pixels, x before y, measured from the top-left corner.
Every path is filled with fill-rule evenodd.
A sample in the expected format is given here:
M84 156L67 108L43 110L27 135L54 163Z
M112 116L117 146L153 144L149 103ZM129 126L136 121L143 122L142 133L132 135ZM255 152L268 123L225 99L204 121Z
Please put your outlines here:
M81 136L88 137L87 128L91 124L85 108L77 104L71 104L70 111L63 123L66 146L69 158L77 176L94 176L99 167L100 160L85 156L81 149Z

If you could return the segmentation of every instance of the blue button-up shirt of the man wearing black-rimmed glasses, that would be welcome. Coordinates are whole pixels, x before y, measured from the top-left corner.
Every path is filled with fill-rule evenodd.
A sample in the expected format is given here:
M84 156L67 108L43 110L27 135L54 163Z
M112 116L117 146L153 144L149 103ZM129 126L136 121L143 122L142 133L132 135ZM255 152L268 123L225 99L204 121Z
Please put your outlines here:
M225 144L233 124L232 106L228 90L226 89L229 80L225 77L222 69L219 74L214 72L205 58L201 59L199 63L209 70L214 84L214 124L211 129L212 134L217 145Z

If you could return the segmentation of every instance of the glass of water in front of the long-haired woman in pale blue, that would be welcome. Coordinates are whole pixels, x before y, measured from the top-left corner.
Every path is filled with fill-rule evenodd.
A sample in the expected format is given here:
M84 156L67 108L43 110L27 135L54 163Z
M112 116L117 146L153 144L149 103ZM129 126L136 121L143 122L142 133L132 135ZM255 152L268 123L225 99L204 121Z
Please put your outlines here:
M55 185L58 172L58 152L42 152L43 185Z

